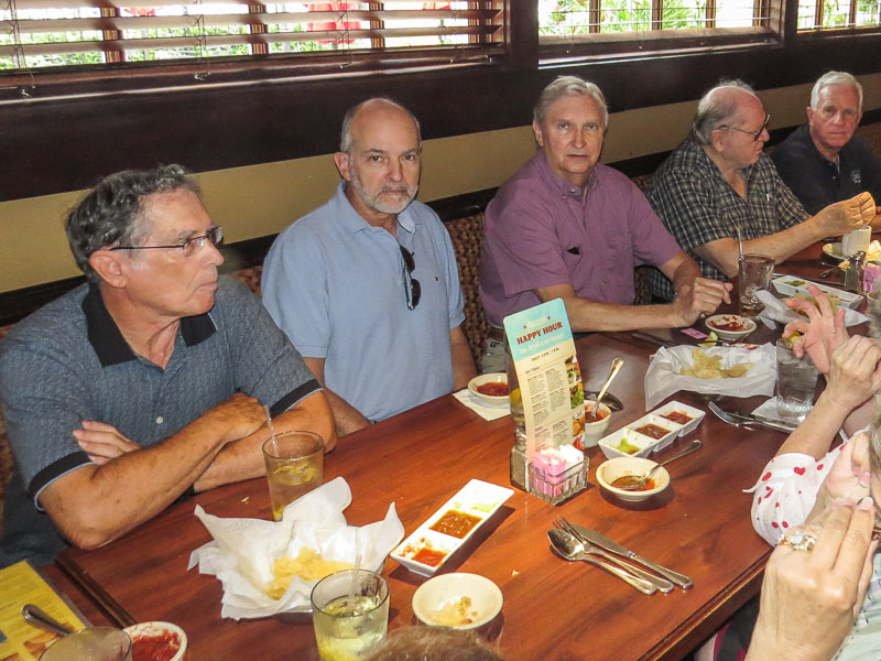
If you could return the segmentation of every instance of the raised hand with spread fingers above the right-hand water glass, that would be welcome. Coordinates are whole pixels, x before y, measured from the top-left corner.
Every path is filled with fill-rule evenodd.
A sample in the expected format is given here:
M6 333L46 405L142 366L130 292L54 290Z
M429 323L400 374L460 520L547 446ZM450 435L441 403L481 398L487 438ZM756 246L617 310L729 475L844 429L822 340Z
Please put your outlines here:
M834 314L829 299L815 284L808 284L807 291L814 296L816 304L804 299L793 297L786 301L786 305L804 312L808 321L796 319L786 324L783 337L790 337L793 333L802 333L802 337L797 337L793 343L793 351L800 358L807 351L816 368L824 375L828 375L830 356L848 338L847 328L845 328L845 310L841 307Z

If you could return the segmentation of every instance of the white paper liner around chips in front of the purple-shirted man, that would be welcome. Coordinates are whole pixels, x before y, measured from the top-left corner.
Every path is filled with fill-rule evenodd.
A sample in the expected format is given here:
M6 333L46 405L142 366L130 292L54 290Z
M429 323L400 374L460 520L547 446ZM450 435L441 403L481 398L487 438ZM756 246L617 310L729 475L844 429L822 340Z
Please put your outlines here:
M707 347L700 350L710 356L721 356L722 369L739 362L752 362L746 376L729 379L698 379L678 373L683 368L694 364L692 351L698 347L681 345L661 347L652 356L649 369L645 370L645 409L651 411L663 400L679 390L690 390L706 394L729 394L732 397L752 397L774 394L777 380L776 350L773 345L764 344L758 349L743 347Z

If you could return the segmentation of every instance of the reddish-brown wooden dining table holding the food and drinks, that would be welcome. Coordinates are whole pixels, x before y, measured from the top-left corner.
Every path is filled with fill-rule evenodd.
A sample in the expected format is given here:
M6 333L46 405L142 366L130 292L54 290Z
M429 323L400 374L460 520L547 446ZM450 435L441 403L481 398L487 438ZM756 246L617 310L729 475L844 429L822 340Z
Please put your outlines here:
M679 339L694 342L685 334ZM598 333L576 347L586 390L599 388L614 356L624 359L611 388L623 410L612 414L610 432L645 413L643 380L656 346L627 333ZM672 399L706 410L706 399L693 392ZM750 410L760 401L737 405ZM785 434L735 427L708 413L692 434L653 458L693 438L704 442L703 449L671 464L670 488L641 503L620 501L597 486L596 468L605 457L590 448L585 491L554 507L515 489L449 559L444 572L481 574L501 588L501 614L481 632L505 659L681 659L758 594L771 548L752 529L752 497L744 489ZM410 533L471 478L510 486L512 444L510 416L488 422L446 395L341 438L326 456L325 481L348 481L350 524L381 520L394 502ZM271 518L265 480L251 479L180 502L100 549L69 548L57 566L120 625L167 620L183 627L191 661L318 659L307 616L220 616L219 581L187 568L191 553L210 541L194 516L197 503L218 517ZM598 567L561 560L547 540L561 514L692 576L694 587L646 596ZM416 624L411 600L426 578L391 559L383 574L391 592L390 630Z

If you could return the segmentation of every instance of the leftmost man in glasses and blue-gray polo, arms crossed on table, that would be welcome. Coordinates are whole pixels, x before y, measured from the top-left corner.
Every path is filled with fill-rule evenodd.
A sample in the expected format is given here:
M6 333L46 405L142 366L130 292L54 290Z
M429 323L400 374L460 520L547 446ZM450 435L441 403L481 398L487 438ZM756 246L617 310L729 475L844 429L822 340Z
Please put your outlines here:
M0 344L15 474L0 566L105 544L182 495L263 474L276 431L336 437L320 388L222 257L176 165L101 181L67 219L84 284Z

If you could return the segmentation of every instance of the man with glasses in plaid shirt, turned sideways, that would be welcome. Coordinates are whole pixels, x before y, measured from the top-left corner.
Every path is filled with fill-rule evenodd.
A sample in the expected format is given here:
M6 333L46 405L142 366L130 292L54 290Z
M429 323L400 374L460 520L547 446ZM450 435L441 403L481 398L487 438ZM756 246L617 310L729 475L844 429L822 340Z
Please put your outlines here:
M725 82L700 99L690 134L652 177L649 202L706 278L736 275L741 250L782 262L874 217L868 193L809 216L762 153L770 119L748 85ZM663 273L650 281L655 296L673 297Z

